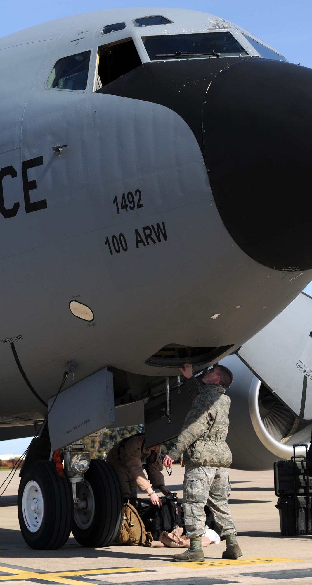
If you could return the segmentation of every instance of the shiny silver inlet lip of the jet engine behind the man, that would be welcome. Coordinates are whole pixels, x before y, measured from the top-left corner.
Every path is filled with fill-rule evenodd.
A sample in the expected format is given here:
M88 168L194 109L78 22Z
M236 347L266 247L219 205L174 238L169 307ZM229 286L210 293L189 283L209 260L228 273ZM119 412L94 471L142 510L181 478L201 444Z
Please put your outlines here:
M250 384L248 395L248 407L252 426L255 429L255 433L258 436L258 439L266 447L266 449L271 451L273 455L279 457L279 459L290 459L290 457L293 455L292 445L283 445L283 443L279 443L268 433L268 431L266 431L266 428L264 427L258 406L260 387L261 381L258 380L256 376L254 376ZM297 449L296 454L299 457L303 457L306 455L306 449L300 447Z

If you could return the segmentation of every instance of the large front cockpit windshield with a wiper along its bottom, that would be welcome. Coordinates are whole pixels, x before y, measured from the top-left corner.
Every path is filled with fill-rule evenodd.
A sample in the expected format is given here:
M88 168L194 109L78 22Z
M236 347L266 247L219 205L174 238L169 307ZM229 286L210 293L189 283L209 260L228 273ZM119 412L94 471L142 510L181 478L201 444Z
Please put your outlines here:
M230 32L195 35L160 35L141 37L151 61L190 59L191 57L234 57L247 55Z

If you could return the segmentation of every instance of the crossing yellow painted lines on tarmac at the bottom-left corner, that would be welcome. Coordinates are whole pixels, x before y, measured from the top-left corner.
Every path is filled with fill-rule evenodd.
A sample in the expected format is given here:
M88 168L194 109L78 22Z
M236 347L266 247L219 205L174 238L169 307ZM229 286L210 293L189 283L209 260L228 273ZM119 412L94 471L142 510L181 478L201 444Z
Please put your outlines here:
M0 581L27 581L29 579L38 579L42 581L53 581L54 583L65 583L67 585L77 585L78 581L75 577L93 576L101 574L117 574L117 573L134 573L149 571L150 569L139 569L138 567L112 567L110 569L85 569L81 571L58 571L55 573L33 573L22 569L11 569L11 567L2 567L0 565L0 572L6 575L0 576ZM72 577L72 579L68 579ZM80 581L79 581L80 583ZM88 581L84 581L87 585Z

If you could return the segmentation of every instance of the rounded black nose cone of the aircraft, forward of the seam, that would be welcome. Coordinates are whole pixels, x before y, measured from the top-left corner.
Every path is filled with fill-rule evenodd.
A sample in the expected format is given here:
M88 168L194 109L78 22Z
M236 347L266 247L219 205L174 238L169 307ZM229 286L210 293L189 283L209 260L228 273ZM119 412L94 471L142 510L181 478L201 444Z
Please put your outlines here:
M221 219L254 260L312 267L312 70L249 59L204 97L204 156Z

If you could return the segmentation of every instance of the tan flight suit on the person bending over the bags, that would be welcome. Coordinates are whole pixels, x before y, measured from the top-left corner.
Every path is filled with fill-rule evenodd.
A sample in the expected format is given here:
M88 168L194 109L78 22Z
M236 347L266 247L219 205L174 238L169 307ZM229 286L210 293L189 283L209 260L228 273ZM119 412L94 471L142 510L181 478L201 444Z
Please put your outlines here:
M144 435L133 435L116 443L107 456L106 461L115 469L124 497L136 497L137 488L141 491L148 487L158 488L165 485L161 471L164 469L161 462L161 450L152 451L145 448ZM146 479L142 462L146 459L148 477Z

